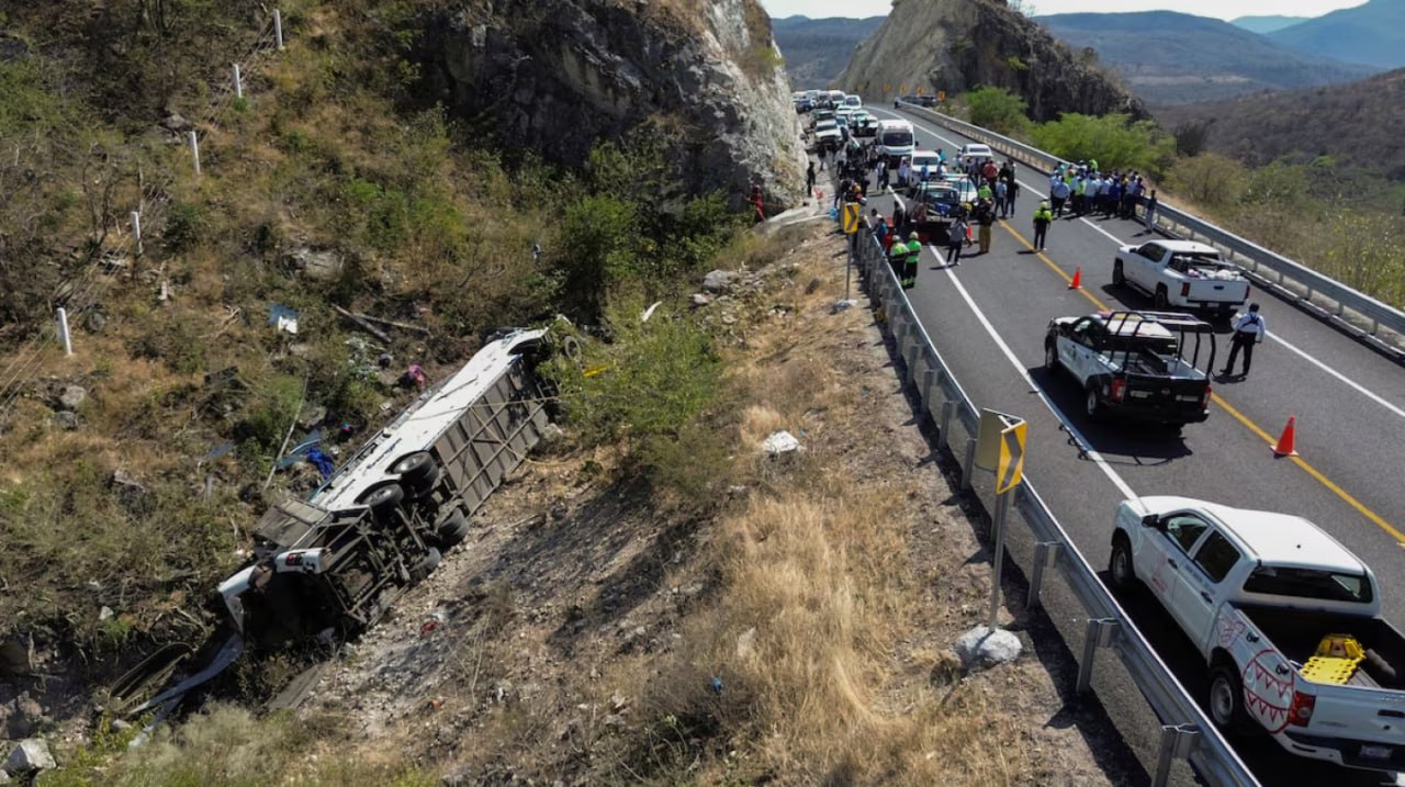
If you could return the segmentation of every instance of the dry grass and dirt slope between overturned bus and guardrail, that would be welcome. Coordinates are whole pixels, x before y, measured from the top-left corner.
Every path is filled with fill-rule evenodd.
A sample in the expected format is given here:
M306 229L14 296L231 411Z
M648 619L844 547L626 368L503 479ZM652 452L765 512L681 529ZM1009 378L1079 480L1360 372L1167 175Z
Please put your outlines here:
M958 669L950 645L981 623L989 555L916 423L873 315L830 309L844 285L842 240L828 222L783 233L783 259L743 273L728 297L701 306L731 344L729 364L749 381L740 388L764 399L739 405L735 461L747 483L700 516L660 505L641 481L600 481L610 476L596 469L611 467L608 455L558 447L531 458L476 517L465 545L347 648L299 713L344 717L367 750L430 765L451 784L684 776L799 784L821 774L930 784L940 774L947 784L1083 787L1135 779L1135 763L1107 755L1120 743L1106 720L1064 701L1072 665L1058 659L1061 648L1035 655L1027 621L1012 623L1026 646L1017 662ZM794 467L754 454L771 422L804 444ZM767 659L816 644L773 637L785 625L784 609L733 620L777 603L747 607L736 596L754 589L745 585L754 578L719 555L740 544L757 565L773 559L766 551L784 538L764 533L764 506L795 510L790 500L805 495L819 500L818 516L830 496L881 502L868 535L825 524L826 549L843 558L825 559L843 566L839 579L863 606L856 620L884 635L865 635L873 646L860 642L844 668L856 686L843 696L863 711L857 722L842 731L798 725L785 735L773 724L771 741L747 739L747 724L767 707L777 718L823 713L762 679L771 675ZM882 544L889 549L874 552ZM864 585L881 575L887 585ZM794 590L799 597L802 589ZM725 646L701 648L708 638ZM704 652L710 661L698 663ZM805 669L819 675L825 665ZM660 711L659 697L670 691L686 696L673 697L679 707L702 701L694 694L707 675L722 697L708 714L715 724ZM887 765L846 765L857 755L816 762L843 748L825 735L851 739L856 729L877 742L858 750L874 748Z

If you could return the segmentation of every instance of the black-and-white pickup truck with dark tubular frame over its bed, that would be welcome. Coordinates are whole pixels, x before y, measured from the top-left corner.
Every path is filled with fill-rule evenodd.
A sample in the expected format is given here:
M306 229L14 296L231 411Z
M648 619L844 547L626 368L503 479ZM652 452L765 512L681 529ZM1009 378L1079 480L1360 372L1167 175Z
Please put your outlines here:
M1083 386L1087 417L1120 415L1173 426L1210 417L1214 327L1173 312L1099 312L1054 318L1044 337L1044 365L1068 371ZM1190 357L1187 358L1187 353Z

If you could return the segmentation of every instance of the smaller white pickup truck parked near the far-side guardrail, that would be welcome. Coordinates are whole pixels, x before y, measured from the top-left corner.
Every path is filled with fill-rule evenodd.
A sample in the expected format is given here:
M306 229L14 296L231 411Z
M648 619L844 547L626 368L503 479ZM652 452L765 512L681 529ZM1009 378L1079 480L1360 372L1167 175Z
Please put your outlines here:
M1229 316L1249 299L1249 281L1224 261L1214 246L1194 240L1151 240L1123 246L1113 263L1113 284L1152 297L1158 309L1214 309Z

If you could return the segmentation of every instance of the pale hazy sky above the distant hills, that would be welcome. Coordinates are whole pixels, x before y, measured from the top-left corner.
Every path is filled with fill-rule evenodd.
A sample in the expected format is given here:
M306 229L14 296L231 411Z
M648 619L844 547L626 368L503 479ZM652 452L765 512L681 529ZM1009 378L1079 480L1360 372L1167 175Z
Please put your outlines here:
M927 3L930 0L913 0ZM1338 8L1364 4L1364 0L1026 0L1034 14L1071 14L1078 11L1154 11L1168 10L1197 17L1232 20L1238 17L1321 17ZM881 17L892 7L891 0L762 0L773 17L804 14L822 17Z

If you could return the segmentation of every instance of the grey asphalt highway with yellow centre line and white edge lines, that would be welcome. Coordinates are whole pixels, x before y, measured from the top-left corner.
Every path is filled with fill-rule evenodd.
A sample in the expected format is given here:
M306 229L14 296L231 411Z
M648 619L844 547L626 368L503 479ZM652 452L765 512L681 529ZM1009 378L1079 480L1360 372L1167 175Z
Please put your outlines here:
M871 108L880 117L905 117L919 148L951 156L967 139L912 115ZM947 267L936 249L923 253L909 298L933 342L979 408L1030 422L1027 474L1055 516L1094 565L1106 565L1111 516L1128 495L1187 495L1234 506L1287 512L1318 523L1361 555L1381 579L1387 617L1405 621L1405 368L1267 294L1263 304L1270 339L1257 347L1253 372L1215 382L1210 420L1180 436L1118 423L1089 423L1082 391L1044 365L1048 320L1103 308L1149 308L1141 295L1113 287L1118 245L1146 235L1118 219L1055 221L1048 250L1037 254L1031 214L1047 193L1047 176L1019 167L1019 214L995 228L992 252ZM870 207L891 212L889 197ZM865 208L867 212L867 208ZM1068 290L1075 267L1082 290ZM1220 356L1228 353L1221 326ZM1040 398L1044 391L1062 420L1094 450L1085 455ZM1270 445L1288 416L1297 416L1301 458L1277 460ZM1026 566L1027 568L1027 566ZM1145 599L1128 599L1144 631L1175 624ZM1201 663L1183 637L1156 641L1187 689L1203 698ZM1118 698L1106 698L1110 705ZM1139 703L1139 700L1137 700ZM1361 772L1316 769L1272 742L1242 746L1266 786L1311 776L1338 783L1380 784Z

